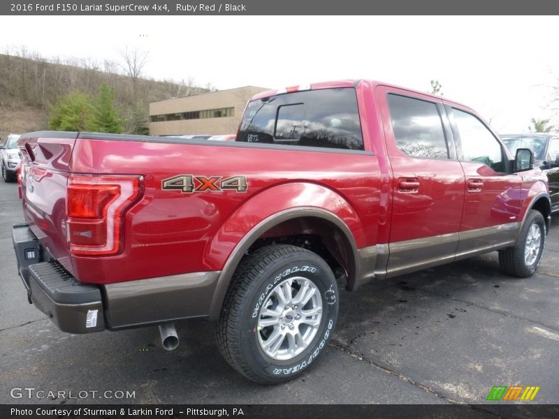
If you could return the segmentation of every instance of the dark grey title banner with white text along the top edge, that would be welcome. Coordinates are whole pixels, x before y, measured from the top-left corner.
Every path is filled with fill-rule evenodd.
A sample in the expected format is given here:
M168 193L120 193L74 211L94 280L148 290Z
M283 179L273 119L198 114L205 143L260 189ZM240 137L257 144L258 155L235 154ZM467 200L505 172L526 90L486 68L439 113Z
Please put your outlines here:
M550 0L7 0L0 15L558 15Z

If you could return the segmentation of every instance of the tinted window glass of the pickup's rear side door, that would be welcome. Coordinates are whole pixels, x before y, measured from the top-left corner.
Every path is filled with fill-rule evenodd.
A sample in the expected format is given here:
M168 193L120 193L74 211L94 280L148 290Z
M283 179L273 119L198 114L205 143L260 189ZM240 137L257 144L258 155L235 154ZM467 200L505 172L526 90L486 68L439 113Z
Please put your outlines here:
M437 105L420 99L388 95L396 145L408 156L448 159L442 120Z

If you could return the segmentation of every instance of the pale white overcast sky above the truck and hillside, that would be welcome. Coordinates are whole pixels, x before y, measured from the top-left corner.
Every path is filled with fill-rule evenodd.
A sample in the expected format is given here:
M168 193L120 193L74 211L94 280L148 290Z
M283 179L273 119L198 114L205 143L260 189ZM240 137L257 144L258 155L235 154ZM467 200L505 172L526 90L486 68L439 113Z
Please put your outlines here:
M122 61L147 52L143 75L217 89L366 78L430 90L477 110L500 133L552 117L559 17L12 16L0 52Z

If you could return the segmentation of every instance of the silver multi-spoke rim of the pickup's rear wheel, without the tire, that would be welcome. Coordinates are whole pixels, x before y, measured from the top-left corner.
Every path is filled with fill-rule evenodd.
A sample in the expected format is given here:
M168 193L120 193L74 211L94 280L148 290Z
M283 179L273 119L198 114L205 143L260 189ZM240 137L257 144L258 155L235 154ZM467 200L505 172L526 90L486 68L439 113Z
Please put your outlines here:
M312 281L293 277L277 284L258 316L260 348L274 360L291 360L305 351L317 335L322 298Z

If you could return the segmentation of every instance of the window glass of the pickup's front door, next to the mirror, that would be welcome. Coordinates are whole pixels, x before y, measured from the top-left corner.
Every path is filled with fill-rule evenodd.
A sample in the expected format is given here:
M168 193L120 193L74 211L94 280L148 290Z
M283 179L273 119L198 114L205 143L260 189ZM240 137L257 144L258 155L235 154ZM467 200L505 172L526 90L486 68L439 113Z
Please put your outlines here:
M458 127L465 161L484 163L496 172L504 172L501 145L488 128L474 115L452 110Z

